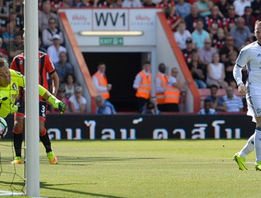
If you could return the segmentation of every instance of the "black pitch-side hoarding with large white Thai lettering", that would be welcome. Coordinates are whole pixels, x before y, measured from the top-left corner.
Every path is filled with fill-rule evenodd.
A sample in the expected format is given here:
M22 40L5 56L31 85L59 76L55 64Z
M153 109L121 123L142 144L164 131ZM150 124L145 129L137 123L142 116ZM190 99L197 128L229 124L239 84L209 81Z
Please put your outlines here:
M246 115L48 115L47 129L56 140L240 139L255 123Z

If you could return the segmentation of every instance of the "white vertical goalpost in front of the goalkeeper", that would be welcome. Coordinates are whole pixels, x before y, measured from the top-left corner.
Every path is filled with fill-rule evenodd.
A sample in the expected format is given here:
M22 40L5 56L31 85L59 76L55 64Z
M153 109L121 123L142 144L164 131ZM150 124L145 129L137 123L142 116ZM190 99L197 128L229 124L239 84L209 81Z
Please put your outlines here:
M40 197L38 1L25 0L25 187Z

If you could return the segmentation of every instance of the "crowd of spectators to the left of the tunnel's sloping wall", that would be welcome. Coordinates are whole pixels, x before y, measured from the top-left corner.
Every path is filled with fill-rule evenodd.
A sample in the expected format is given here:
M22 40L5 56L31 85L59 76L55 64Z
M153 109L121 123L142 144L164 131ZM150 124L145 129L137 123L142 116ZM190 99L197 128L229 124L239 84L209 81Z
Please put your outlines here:
M83 88L75 81L73 66L67 60L67 50L57 16L57 10L62 6L79 6L82 1L38 2L39 50L49 55L59 75L60 88L57 97L68 106L67 112L86 112ZM24 51L23 0L0 0L0 18L0 57L10 63Z

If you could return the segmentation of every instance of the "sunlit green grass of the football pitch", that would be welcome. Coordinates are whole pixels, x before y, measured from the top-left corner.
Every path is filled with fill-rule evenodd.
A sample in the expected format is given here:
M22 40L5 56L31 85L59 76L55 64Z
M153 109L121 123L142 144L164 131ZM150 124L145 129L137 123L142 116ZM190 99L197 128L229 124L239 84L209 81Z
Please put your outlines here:
M52 141L49 165L40 145L42 197L260 197L261 173L238 170L233 154L246 140ZM7 141L4 144L9 144ZM2 158L11 148L0 145ZM9 156L8 156L9 155ZM13 170L2 159L3 170ZM24 165L16 170L23 175ZM0 190L12 179L0 175ZM15 178L14 186L23 181Z

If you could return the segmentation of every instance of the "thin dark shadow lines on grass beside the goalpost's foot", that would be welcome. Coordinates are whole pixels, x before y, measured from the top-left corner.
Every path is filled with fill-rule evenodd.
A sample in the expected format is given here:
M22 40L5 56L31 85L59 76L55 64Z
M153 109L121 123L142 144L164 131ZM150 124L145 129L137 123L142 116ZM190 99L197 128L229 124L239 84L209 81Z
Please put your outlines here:
M78 183L77 183L78 184ZM92 185L95 183L89 183L89 184L84 184L84 185ZM75 185L73 183L70 184L47 184L45 182L40 182L40 187L47 189L47 190L60 190L62 192L71 192L74 193L75 196L73 197L82 197L83 195L85 196L95 196L95 197L112 197L112 198L124 198L124 197L116 197L116 196L112 196L112 195L107 195L107 194L97 194L97 193L91 193L91 192L83 192L83 191L79 191L79 190L68 190L68 189L61 189L58 187L52 187L52 186L63 186L63 185ZM50 196L49 196L50 197ZM63 198L63 197L56 197L56 198Z

